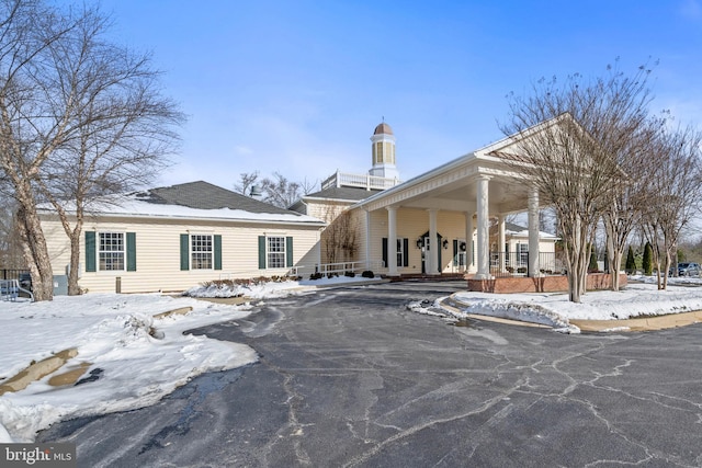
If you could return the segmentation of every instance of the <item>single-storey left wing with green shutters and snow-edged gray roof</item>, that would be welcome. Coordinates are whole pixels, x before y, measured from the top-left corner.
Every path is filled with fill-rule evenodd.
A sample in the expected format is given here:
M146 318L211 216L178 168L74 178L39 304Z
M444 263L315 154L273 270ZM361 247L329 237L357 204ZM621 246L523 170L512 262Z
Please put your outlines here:
M111 196L86 217L79 285L87 292L177 292L203 282L285 275L320 262L325 224L207 182ZM42 210L55 275L68 237Z

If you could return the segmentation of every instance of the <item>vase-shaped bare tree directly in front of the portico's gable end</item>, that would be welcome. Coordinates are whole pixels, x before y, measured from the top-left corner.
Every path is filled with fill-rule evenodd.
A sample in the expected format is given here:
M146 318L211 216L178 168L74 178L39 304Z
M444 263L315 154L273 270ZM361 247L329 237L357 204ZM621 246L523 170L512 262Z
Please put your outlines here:
M616 156L631 146L650 101L645 67L626 77L608 67L603 78L542 80L528 98L513 94L507 135L518 155L502 155L524 174L556 215L563 237L569 299L580 301L597 225L621 182Z

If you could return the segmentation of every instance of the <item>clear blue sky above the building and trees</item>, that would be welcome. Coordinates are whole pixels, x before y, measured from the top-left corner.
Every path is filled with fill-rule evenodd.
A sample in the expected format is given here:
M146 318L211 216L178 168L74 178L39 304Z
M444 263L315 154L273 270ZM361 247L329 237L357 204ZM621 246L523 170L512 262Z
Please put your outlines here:
M702 125L702 0L103 0L182 106L158 181L231 189L241 172L365 173L385 118L404 180L491 141L506 95L541 77L659 60L654 110Z

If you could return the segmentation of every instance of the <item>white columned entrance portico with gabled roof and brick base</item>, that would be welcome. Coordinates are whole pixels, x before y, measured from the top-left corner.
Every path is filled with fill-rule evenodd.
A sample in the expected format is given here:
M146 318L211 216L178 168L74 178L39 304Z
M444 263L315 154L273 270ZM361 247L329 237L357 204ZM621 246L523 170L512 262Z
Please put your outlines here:
M420 266L426 275L440 275L453 271L442 250L453 246L455 263L460 246L465 249L465 272L475 279L490 279L490 218L498 219L497 250L502 251L506 216L526 212L528 274L539 275L540 196L502 158L516 144L500 140L353 205L365 212L361 251L366 262L382 258L388 276L416 274ZM428 236L421 238L422 232ZM407 246L419 252L404 251Z

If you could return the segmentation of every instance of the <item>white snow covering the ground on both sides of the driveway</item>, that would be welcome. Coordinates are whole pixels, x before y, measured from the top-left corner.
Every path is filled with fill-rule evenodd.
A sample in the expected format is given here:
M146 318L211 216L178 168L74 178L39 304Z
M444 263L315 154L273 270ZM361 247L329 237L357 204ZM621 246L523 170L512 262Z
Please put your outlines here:
M272 283L219 290L194 288L190 294L264 299L298 294L309 285L350 281L362 278ZM702 286L702 281L673 278L666 292L658 292L655 284L630 284L620 293L588 293L579 305L568 303L565 294L458 293L456 298L467 306L456 313L511 317L577 331L569 326L569 319L623 319L700 310L702 287L695 285ZM193 310L154 318L181 307ZM433 308L417 305L414 309L427 312ZM152 404L199 374L256 362L256 352L247 345L183 334L189 329L246 317L250 311L248 304L228 306L157 294L88 294L56 297L50 303L0 303L0 384L31 362L70 347L78 349L78 356L57 373L88 362L91 365L83 377L99 377L84 385L53 387L47 376L24 390L0 396L0 443L31 442L37 431L60 419Z

